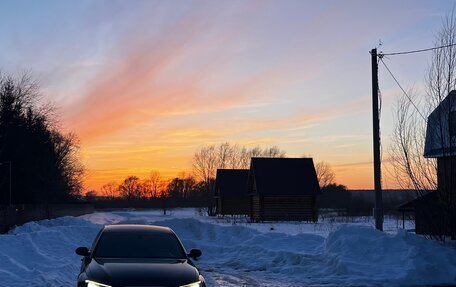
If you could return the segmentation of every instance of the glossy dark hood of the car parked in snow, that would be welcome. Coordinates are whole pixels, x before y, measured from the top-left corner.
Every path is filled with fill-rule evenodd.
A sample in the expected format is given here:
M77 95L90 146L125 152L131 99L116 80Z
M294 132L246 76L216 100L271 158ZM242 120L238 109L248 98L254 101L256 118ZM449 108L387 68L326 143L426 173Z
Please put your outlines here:
M90 280L116 286L181 286L199 279L186 259L92 259Z

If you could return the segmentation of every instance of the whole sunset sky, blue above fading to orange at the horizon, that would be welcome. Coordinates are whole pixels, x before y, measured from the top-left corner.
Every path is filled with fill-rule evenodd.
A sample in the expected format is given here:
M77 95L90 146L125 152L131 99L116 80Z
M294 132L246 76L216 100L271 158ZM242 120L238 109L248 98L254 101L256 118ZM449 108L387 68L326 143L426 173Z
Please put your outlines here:
M30 72L98 189L191 170L229 141L311 155L372 188L369 51L433 46L454 1L0 1L0 70ZM423 90L429 53L385 59ZM400 90L380 66L383 158ZM387 162L387 160L386 160ZM384 167L384 186L396 186Z

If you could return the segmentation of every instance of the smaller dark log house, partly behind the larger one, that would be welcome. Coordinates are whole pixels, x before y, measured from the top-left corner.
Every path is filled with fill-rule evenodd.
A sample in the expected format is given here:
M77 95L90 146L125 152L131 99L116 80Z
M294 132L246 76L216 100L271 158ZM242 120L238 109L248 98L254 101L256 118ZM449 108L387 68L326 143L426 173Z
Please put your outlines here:
M215 179L216 214L248 215L248 169L218 169Z

